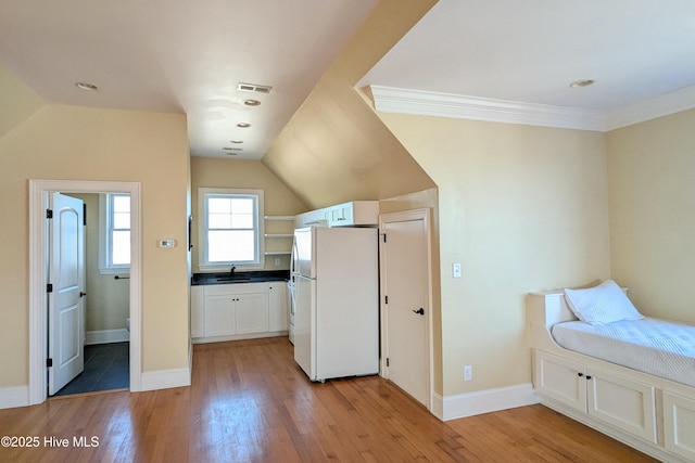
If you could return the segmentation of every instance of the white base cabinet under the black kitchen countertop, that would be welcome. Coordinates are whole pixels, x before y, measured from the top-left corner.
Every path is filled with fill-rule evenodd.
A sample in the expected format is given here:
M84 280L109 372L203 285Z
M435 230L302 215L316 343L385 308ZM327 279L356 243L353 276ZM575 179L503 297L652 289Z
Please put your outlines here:
M193 343L287 334L285 282L235 283L191 287ZM281 316L280 316L281 313Z

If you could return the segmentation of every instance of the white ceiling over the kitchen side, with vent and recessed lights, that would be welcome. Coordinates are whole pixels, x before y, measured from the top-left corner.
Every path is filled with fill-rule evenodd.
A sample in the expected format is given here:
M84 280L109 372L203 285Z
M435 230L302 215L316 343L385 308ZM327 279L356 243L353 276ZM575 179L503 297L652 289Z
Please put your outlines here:
M2 0L0 64L50 103L186 113L193 155L260 158L376 3Z

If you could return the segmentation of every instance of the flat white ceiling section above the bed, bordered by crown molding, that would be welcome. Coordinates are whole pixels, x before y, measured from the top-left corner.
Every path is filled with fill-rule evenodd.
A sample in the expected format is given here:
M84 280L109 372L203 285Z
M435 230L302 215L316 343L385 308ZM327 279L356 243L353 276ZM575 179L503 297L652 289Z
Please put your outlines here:
M579 79L596 83L569 87ZM437 100L433 113L472 101L592 116L675 90L682 102L693 85L693 0L440 0L358 83L407 89L401 102Z

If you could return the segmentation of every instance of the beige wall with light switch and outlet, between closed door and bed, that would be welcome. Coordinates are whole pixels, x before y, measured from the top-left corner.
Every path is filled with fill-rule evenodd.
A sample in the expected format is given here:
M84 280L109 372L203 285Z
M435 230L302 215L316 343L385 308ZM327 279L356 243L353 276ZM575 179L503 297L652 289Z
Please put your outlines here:
M610 275L603 133L380 117L439 188L443 395L530 383L525 295Z

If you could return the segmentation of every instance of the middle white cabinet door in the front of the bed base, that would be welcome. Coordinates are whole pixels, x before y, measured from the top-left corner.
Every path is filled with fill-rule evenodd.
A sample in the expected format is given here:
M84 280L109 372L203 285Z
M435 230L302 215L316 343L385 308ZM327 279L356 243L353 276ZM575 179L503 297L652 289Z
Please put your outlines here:
M590 415L657 442L654 387L604 370L587 370L586 378Z

